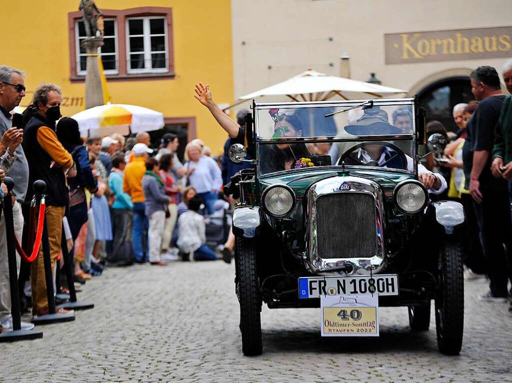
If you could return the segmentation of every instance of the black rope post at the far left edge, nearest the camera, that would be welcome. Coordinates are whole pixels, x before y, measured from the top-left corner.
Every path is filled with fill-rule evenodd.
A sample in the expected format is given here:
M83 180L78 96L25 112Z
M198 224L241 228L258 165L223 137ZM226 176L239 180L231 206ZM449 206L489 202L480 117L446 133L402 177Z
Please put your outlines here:
M11 315L12 331L6 331L0 334L0 342L14 342L30 339L42 338L42 331L22 330L21 313L19 310L18 294L18 271L16 268L16 249L14 246L14 221L12 218L12 193L14 187L12 178L6 177L4 180L7 190L4 196L4 221L5 235L7 239L7 256L9 262L9 287L11 289Z

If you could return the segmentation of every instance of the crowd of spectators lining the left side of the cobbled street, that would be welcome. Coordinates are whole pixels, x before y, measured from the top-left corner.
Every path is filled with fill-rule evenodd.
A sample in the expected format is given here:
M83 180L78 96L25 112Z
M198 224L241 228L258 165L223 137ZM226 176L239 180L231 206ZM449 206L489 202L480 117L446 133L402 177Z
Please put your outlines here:
M184 164L173 133L165 133L156 148L147 132L86 140L77 121L61 116L62 93L55 84L39 85L23 115L14 113L26 95L24 76L20 70L0 66L0 197L7 193L3 181L9 176L14 181L15 234L20 242L31 243L22 238L31 232L26 223L35 194L33 183L45 181L50 263L61 291L69 288L65 273L56 270L62 236L73 265L72 283L79 284L111 265L163 266L170 261L218 258L215 250L220 252L222 247L206 246L205 216L215 216L229 204L217 202L222 197L221 168L207 155L209 149L201 140L188 143ZM22 309L30 312L31 307L33 318L48 314L42 249L31 264L16 259ZM12 327L2 215L0 332ZM22 327L33 325L23 322Z

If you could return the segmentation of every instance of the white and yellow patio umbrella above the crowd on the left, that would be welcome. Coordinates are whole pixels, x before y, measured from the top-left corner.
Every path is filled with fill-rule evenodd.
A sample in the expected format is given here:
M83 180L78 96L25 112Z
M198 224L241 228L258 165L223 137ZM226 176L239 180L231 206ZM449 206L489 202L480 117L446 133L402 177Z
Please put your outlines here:
M108 136L121 133L124 136L141 131L163 128L163 114L137 105L111 104L95 106L71 116L78 122L82 137Z

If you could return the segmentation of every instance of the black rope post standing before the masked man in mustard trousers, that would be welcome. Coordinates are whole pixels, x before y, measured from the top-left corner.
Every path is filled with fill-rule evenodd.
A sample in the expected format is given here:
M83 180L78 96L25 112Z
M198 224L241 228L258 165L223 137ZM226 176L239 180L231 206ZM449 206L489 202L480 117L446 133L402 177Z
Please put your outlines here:
M46 184L44 181L38 180L34 182L34 192L42 194L46 190ZM75 314L70 313L56 313L55 310L55 297L53 295L53 270L52 261L50 255L50 241L48 239L48 225L46 221L46 215L44 219L44 226L42 228L42 260L45 267L45 281L46 281L46 295L48 299L48 314L39 315L32 319L34 324L49 324L55 322L69 322L75 320ZM40 260L38 260L39 262ZM35 302L33 302L35 305Z

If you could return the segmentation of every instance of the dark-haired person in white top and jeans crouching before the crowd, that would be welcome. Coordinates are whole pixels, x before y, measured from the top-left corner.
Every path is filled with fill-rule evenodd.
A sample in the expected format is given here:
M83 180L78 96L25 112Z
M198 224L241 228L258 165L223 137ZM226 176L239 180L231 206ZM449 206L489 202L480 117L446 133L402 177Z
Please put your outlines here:
M194 253L196 261L216 260L215 253L206 246L206 226L204 217L199 214L202 199L196 195L188 201L188 210L180 215L178 247L182 253ZM184 257L186 259L188 257Z

